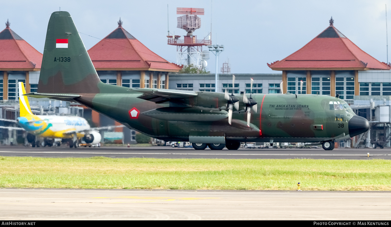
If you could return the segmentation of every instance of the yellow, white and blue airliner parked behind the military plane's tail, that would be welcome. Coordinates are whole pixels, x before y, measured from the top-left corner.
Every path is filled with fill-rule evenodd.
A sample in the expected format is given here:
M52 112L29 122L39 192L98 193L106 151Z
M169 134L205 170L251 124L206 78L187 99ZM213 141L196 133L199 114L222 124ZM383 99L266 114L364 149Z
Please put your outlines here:
M102 138L98 131L94 131L83 117L34 115L30 109L25 87L19 82L20 117L18 124L29 134L27 140L32 147L39 146L43 140L44 146L52 146L54 139L68 142L69 146L78 147L83 139L89 145L100 143Z

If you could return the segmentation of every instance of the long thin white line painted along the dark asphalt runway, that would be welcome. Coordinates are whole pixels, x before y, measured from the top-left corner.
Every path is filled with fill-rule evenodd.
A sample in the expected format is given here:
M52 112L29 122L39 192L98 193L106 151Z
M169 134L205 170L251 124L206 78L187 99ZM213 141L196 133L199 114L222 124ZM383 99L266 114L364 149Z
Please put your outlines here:
M106 152L50 152L50 151L0 151L0 153L56 153L56 154L107 154L107 155L306 155L306 154L217 154L217 153L106 153ZM334 154L310 154L308 156L366 156L358 155L334 155ZM388 155L388 154L383 154ZM380 155L369 155L380 156Z

